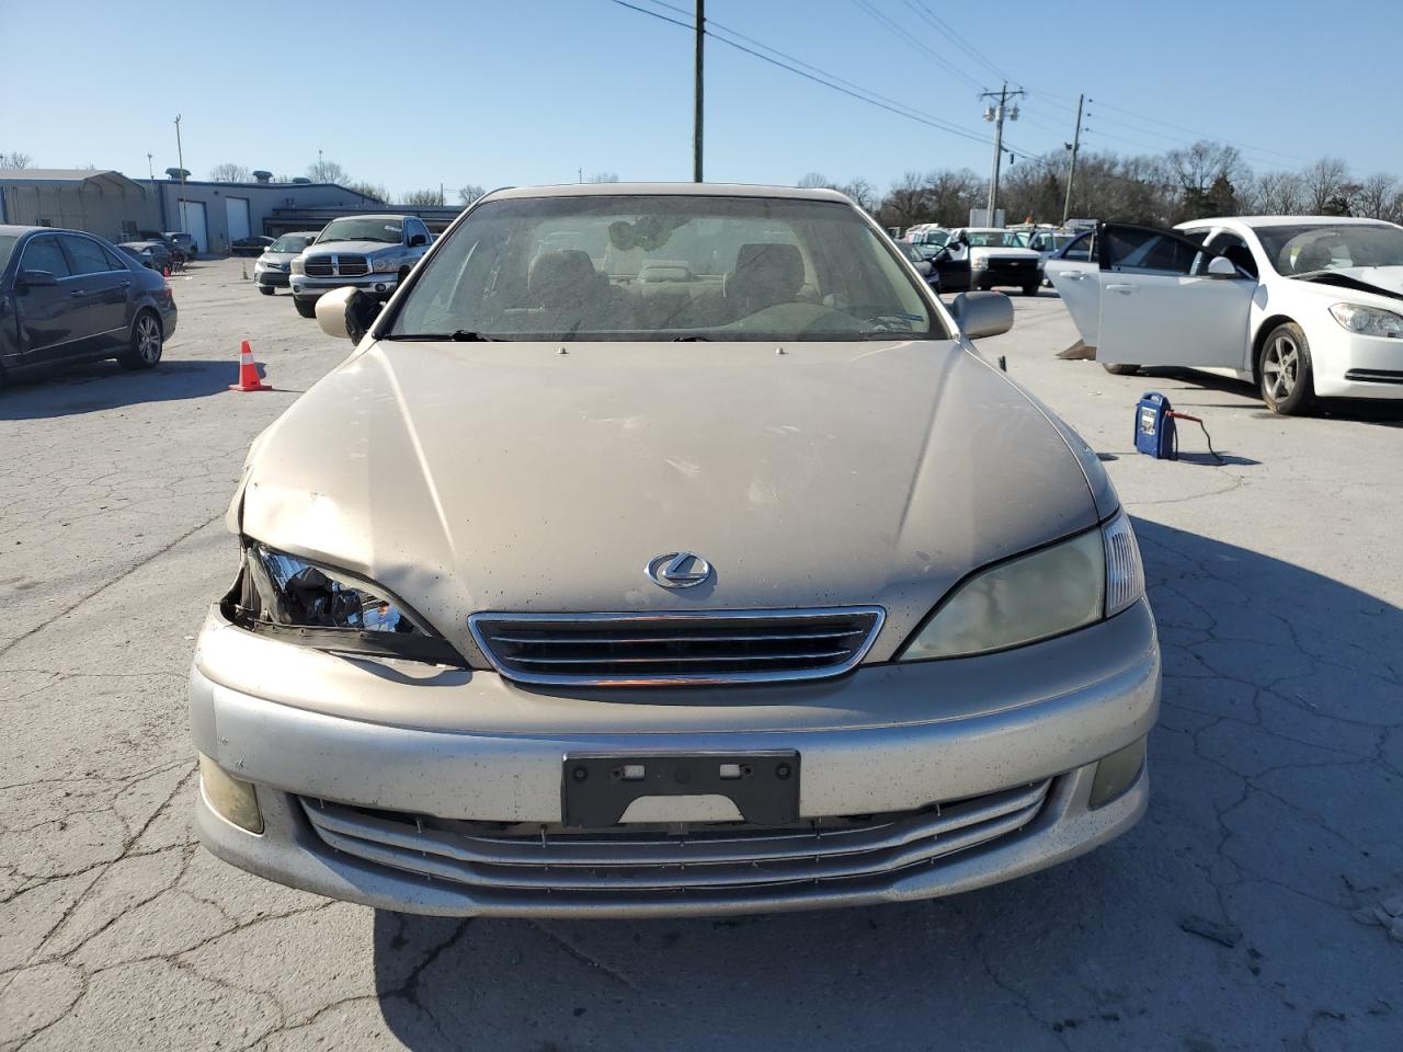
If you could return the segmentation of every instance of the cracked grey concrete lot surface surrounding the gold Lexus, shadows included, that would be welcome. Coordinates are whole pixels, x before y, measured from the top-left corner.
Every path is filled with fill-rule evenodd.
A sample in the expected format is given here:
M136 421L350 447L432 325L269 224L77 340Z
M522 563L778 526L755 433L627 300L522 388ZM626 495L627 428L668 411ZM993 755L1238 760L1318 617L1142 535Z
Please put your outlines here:
M988 341L1108 457L1164 644L1125 837L953 899L741 920L376 913L216 861L185 675L253 436L349 345L198 264L154 373L0 397L0 1049L1400 1049L1403 417ZM230 394L248 338L278 389ZM464 351L464 353L470 353ZM699 345L697 353L704 353ZM1131 452L1142 390L1228 466ZM1191 425L1186 453L1202 450Z

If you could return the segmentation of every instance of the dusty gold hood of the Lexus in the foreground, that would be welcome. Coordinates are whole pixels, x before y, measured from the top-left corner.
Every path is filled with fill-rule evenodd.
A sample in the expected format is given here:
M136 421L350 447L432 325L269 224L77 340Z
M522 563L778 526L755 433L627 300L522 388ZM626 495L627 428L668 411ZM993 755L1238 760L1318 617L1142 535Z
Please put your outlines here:
M1097 522L1048 417L918 341L372 344L260 436L231 511L467 651L481 610L878 603L873 661L971 569ZM672 551L714 576L654 585Z

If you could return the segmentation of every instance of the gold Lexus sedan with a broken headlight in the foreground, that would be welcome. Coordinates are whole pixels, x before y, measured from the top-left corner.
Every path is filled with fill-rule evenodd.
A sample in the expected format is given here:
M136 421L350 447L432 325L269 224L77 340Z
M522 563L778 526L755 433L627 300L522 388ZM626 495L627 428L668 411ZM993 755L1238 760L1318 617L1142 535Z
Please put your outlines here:
M254 443L191 673L217 856L372 906L918 899L1141 816L1103 467L832 191L490 194Z

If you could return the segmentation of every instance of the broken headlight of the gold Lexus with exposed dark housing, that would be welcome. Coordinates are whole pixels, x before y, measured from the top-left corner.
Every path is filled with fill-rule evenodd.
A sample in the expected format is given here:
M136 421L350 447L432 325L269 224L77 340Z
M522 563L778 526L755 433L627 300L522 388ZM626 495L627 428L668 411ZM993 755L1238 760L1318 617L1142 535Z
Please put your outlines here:
M248 543L230 596L236 624L309 647L462 665L452 644L380 586Z

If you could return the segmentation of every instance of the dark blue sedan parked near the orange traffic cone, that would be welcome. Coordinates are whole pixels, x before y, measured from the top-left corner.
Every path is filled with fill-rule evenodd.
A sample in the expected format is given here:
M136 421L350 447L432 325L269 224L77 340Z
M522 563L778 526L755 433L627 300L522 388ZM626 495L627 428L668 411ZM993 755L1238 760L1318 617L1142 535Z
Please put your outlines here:
M24 369L97 358L150 369L174 331L166 279L101 237L0 226L0 386Z

